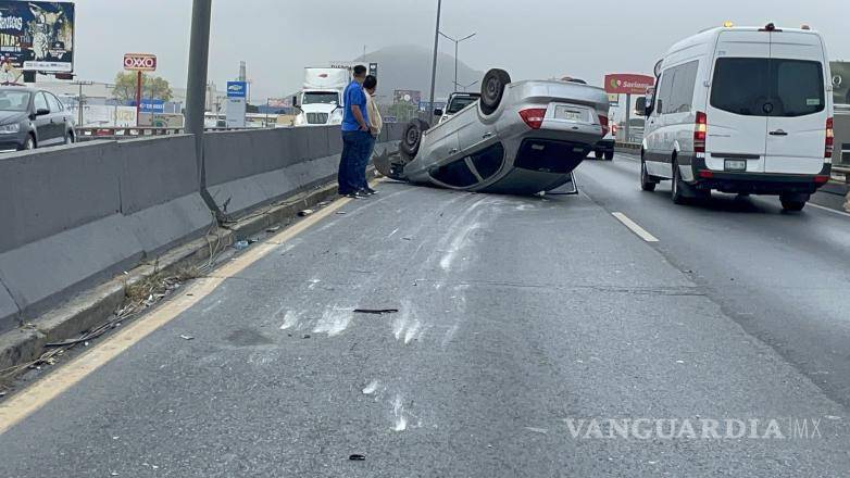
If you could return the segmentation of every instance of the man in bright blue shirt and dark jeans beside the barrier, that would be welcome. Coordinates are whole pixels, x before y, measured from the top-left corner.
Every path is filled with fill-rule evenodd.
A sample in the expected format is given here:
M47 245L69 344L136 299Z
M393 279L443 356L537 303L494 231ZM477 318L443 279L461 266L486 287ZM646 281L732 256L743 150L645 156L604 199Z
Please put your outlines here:
M339 194L362 199L366 194L360 191L358 166L367 153L372 134L368 129L368 112L366 111L366 95L362 84L366 79L366 67L354 66L353 78L342 93L345 109L342 110L342 154L339 158L337 183Z

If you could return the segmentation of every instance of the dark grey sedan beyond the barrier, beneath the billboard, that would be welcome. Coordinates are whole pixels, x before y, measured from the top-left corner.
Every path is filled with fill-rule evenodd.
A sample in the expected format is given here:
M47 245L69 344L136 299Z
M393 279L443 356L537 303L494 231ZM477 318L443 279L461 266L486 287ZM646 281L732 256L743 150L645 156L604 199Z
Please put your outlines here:
M0 150L74 142L74 120L51 92L0 87Z

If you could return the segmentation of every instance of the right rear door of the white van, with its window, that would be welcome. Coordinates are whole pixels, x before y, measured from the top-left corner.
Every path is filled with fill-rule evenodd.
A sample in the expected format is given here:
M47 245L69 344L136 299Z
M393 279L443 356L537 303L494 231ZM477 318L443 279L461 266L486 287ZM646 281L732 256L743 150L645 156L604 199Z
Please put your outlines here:
M817 174L824 165L826 59L813 33L771 33L771 91L765 172Z

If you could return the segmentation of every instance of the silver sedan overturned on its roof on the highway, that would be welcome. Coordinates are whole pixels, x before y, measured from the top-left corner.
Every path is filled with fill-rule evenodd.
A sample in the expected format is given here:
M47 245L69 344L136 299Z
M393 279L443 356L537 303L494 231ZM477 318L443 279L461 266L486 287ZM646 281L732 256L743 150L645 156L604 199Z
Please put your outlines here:
M572 180L608 130L601 88L561 80L511 83L490 70L480 100L433 128L407 126L397 156L375 161L385 176L479 192L533 194Z

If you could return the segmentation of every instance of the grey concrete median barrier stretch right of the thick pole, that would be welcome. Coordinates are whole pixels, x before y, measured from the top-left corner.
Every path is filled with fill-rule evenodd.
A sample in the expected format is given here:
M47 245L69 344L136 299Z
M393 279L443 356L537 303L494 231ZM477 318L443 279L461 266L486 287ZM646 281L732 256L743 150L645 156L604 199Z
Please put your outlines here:
M401 128L387 125L376 154L395 148ZM333 179L342 140L338 126L223 131L204 135L203 149L210 194L238 217Z

